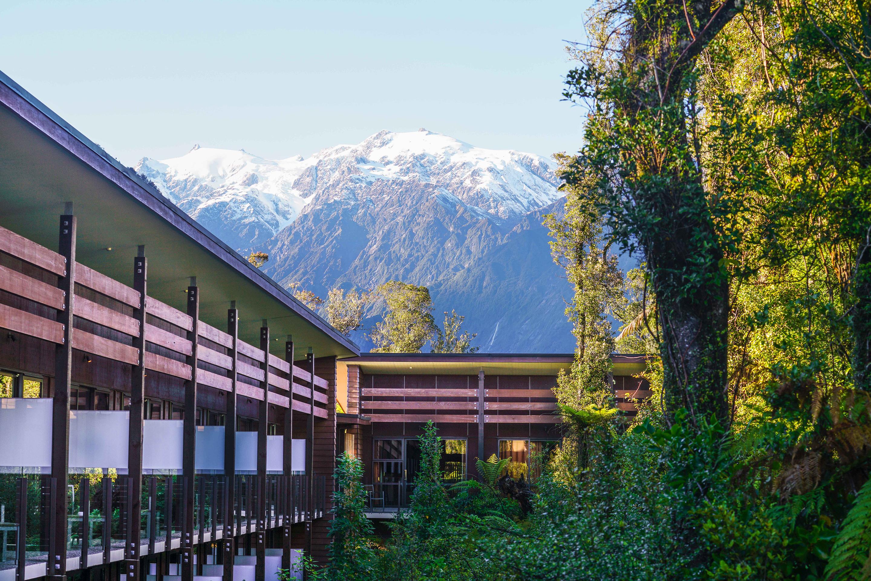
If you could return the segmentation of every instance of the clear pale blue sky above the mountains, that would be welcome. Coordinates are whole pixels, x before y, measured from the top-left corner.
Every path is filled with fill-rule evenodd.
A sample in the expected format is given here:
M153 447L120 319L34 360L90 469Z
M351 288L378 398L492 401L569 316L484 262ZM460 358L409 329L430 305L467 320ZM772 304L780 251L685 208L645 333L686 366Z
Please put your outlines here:
M0 2L0 70L122 162L308 156L382 129L576 151L581 2Z

